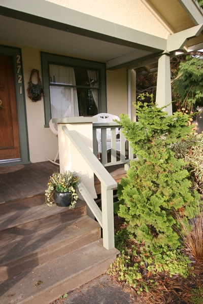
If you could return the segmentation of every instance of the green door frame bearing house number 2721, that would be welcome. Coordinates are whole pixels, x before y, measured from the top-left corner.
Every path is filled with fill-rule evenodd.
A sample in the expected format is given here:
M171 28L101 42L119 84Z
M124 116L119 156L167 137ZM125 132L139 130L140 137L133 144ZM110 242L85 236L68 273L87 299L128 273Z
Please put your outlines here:
M0 55L10 56L12 57L12 61L13 61L16 106L17 106L17 116L18 116L18 132L19 132L19 141L20 141L20 160L0 163L0 167L29 164L30 161L29 161L29 146L28 146L28 135L27 135L27 117L26 117L25 90L24 90L21 49L0 45Z

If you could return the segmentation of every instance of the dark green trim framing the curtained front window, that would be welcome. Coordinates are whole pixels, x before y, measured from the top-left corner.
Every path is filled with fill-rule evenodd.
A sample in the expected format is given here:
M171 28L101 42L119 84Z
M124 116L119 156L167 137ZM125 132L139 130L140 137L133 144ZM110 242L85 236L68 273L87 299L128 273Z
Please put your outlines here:
M91 70L97 70L99 73L99 90L98 104L99 112L107 112L107 90L106 90L106 63L85 60L75 57L57 55L52 53L41 52L42 63L42 82L45 90L44 96L44 112L45 112L45 127L49 127L49 121L51 119L51 104L49 94L49 64L62 64L76 68L85 68ZM99 96L100 95L100 96Z

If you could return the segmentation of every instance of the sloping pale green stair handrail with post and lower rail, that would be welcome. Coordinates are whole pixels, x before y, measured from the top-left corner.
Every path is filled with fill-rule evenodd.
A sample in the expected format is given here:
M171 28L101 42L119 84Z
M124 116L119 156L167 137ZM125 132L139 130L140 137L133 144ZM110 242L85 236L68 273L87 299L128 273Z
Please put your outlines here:
M117 183L82 140L77 131L70 131L66 126L62 126L62 130L101 182L101 210L82 182L78 185L78 189L98 223L103 228L104 247L108 250L114 248L113 189L117 187Z

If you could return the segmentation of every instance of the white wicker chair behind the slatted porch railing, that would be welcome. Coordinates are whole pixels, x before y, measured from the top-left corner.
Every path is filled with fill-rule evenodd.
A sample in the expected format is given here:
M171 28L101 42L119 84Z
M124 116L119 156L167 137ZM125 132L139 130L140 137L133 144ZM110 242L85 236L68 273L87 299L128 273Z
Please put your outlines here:
M112 115L109 113L99 113L94 115L93 117L98 118L98 123L113 123L113 120L116 119L120 121L120 118L116 115ZM120 134L120 130L116 128L116 135ZM100 159L101 153L101 129L96 129L96 139L98 144L98 157ZM107 150L111 149L111 129L107 129ZM116 139L116 150L120 151L120 139Z

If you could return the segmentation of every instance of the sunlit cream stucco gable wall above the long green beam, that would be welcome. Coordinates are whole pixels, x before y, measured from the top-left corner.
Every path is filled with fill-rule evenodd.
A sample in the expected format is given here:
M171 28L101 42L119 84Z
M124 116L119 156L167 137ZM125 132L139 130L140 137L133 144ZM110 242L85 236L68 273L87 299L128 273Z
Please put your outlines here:
M46 0L94 17L166 38L170 33L142 0Z

